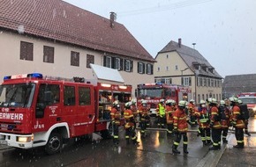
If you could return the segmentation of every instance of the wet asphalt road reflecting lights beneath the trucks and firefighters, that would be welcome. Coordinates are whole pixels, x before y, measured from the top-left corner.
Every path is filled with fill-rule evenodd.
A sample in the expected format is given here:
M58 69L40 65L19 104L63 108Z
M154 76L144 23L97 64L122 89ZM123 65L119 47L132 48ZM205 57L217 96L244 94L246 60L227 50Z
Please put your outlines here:
M254 120L251 121L250 126L253 130ZM255 138L253 136L251 138L255 139L256 136ZM232 144L236 143L234 134L229 134L230 142L228 145L222 145L222 150L211 152L208 151L208 146L202 145L200 137L197 137L195 132L188 133L188 138L188 155L183 154L182 143L178 147L181 154L172 154L174 137L167 136L163 130L147 131L145 139L140 139L138 132L139 146L126 145L122 128L119 146L114 146L112 140L91 142L89 139L79 139L65 146L61 153L52 156L46 155L43 149L19 150L0 146L0 166L232 166L226 159L234 152L232 148ZM248 139L245 146L246 144L254 146L253 143ZM243 151L245 154L250 152L247 149ZM244 158L244 161L247 160L251 161Z

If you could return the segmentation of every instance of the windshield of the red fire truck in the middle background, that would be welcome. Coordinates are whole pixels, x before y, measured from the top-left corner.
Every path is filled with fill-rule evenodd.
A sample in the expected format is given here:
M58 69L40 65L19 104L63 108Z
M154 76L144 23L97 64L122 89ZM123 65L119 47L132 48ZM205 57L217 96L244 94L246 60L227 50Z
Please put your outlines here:
M162 98L162 88L138 89L138 98Z

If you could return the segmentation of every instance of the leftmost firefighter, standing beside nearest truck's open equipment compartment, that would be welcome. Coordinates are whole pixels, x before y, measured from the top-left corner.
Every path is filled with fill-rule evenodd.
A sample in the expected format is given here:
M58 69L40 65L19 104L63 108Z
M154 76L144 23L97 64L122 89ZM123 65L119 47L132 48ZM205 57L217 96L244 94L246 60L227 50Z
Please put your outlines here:
M113 142L114 144L119 144L119 136L118 136L118 131L120 127L120 120L121 120L121 111L120 111L120 105L119 102L116 100L113 102L113 107L110 112L111 116L111 123L113 126L114 130L114 136L113 136Z

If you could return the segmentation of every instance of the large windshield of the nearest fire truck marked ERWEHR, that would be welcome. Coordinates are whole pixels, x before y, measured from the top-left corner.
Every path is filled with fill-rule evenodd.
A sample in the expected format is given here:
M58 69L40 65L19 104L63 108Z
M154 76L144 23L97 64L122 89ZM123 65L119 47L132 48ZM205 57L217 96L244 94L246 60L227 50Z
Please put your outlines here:
M34 84L0 85L0 107L30 107Z

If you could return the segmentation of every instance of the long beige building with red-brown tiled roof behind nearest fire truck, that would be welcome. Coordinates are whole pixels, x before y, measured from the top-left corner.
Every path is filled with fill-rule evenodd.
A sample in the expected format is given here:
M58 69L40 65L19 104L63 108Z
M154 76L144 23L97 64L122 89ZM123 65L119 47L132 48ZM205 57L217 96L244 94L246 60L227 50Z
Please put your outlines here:
M61 0L0 1L0 77L40 72L92 78L90 63L117 69L124 84L154 82L154 58L116 22Z

